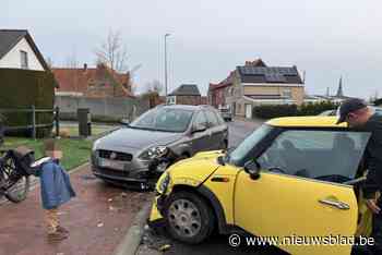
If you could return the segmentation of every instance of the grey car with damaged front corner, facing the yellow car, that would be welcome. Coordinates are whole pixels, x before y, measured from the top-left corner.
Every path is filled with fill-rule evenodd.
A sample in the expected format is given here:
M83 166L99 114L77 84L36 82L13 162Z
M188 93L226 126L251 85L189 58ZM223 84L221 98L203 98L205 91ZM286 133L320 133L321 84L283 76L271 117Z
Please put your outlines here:
M227 145L228 127L214 108L158 106L97 139L92 149L92 169L107 182L144 186L155 184L155 178L160 175L156 171L165 170L153 169L158 158L171 154L182 159L199 151L225 149Z

